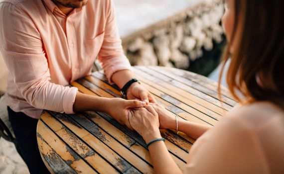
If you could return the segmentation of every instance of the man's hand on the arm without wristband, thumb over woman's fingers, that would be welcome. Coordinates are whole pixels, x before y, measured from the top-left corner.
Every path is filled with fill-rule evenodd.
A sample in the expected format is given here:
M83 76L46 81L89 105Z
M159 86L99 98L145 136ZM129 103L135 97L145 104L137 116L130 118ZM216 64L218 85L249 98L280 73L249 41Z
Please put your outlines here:
M131 114L130 108L139 108L144 106L146 106L144 101L108 98L104 104L103 111L111 115L120 124L126 125L128 128L133 130L128 119L129 114Z

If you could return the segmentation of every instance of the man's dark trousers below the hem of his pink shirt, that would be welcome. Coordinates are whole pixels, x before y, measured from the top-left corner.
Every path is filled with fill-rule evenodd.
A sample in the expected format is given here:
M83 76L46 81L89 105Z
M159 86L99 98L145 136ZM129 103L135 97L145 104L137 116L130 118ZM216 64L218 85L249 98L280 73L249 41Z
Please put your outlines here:
M9 107L8 115L17 140L18 150L30 174L50 174L40 157L37 146L36 125L38 119L31 118L22 112L14 112Z

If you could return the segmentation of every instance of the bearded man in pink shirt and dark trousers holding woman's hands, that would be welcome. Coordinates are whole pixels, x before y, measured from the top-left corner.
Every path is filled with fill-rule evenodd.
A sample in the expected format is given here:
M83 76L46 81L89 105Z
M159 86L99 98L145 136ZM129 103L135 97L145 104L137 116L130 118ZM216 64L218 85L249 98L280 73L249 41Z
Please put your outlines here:
M43 109L100 110L131 128L129 108L153 101L133 79L112 0L0 0L0 51L9 70L9 120L30 173L47 172L36 142ZM142 101L95 97L67 87L90 75L96 57L110 83L128 99Z

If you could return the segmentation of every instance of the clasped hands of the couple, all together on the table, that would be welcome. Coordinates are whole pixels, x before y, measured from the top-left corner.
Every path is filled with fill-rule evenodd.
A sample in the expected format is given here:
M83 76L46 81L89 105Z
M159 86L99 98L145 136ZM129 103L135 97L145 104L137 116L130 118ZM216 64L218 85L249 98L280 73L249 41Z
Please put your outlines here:
M142 86L133 85L127 91L129 100L112 98L107 113L120 124L136 130L147 139L160 138L159 129L175 129L175 117Z

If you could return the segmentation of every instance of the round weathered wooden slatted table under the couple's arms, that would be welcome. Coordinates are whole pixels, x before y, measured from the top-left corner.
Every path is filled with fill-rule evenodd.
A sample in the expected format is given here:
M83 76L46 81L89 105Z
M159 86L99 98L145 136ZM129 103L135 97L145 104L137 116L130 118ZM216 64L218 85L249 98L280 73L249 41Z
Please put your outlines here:
M221 103L217 83L191 72L164 67L133 67L133 70L158 103L189 121L214 126L236 104L225 87ZM103 72L95 72L71 85L90 95L121 97L119 88L108 84ZM174 130L160 132L172 158L184 170L195 140L183 133L177 135ZM37 125L37 142L51 173L153 173L142 137L102 112L68 115L44 111Z

